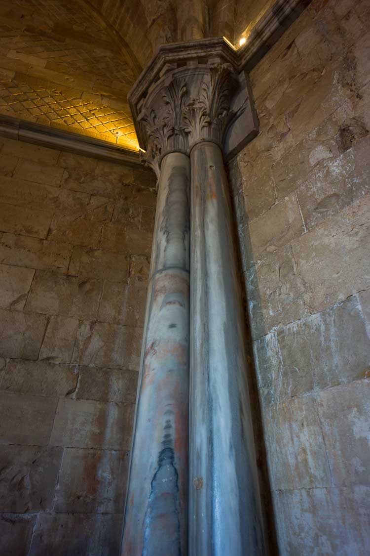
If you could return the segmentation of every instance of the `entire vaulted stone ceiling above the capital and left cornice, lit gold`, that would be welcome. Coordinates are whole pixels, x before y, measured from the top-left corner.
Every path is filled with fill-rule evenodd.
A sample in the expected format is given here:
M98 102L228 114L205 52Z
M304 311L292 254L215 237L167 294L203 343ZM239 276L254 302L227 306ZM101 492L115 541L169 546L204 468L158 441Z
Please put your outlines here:
M127 94L160 44L236 42L271 0L0 0L0 113L138 144Z

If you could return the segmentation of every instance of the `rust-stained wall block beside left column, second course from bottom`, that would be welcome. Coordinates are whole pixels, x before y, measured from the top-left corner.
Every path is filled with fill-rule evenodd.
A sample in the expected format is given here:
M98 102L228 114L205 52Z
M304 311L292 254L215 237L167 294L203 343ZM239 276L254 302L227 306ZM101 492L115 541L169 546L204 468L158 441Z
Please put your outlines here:
M128 452L65 448L55 512L122 512L128 464Z

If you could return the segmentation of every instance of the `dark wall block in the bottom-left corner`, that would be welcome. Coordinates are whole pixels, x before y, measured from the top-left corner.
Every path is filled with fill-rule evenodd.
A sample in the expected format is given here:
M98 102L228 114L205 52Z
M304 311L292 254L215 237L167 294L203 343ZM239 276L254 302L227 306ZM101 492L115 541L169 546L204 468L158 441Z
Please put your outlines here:
M0 553L2 556L27 556L36 515L0 514Z

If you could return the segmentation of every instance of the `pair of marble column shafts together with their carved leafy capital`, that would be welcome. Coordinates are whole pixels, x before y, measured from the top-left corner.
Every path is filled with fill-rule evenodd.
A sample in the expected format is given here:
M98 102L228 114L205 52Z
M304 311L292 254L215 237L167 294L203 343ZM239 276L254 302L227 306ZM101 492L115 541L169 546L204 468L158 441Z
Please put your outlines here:
M158 203L122 556L266 554L221 150L234 68L194 51L130 98Z

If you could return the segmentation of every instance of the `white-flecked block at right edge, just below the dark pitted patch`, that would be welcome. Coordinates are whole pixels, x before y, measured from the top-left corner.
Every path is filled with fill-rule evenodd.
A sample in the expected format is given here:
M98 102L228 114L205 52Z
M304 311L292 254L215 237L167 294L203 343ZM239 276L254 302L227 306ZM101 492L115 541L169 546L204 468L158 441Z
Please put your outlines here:
M307 229L370 192L370 139L358 142L323 168L313 171L297 190Z

